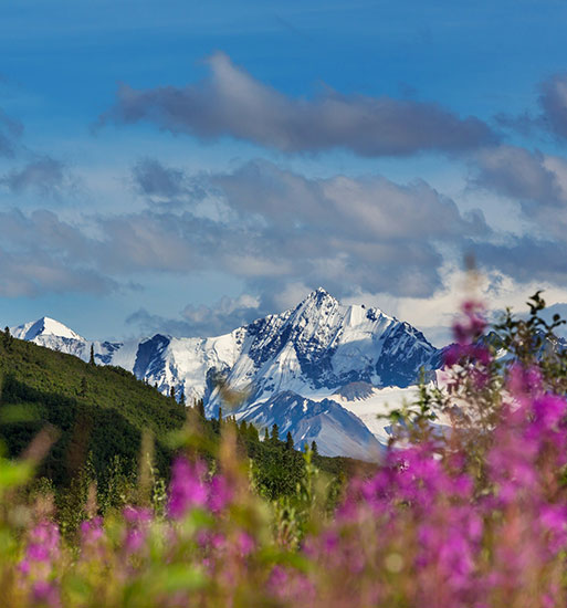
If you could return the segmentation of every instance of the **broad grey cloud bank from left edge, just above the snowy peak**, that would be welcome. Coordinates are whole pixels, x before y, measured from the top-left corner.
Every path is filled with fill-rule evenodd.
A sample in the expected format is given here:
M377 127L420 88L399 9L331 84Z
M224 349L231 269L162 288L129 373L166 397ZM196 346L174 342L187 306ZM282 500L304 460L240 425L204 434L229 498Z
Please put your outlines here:
M159 190L164 203L168 192L178 198L182 182L187 191L208 192L227 217L198 214L191 201L156 207L151 197L140 211L85 216L82 224L50 211L7 211L0 217L0 251L21 285L19 291L4 289L4 295L41 289L33 273L14 265L17 256L34 255L53 271L66 269L66 281L43 285L54 291L81 291L73 277L87 272L104 291L148 272L214 270L240 277L252 293L295 283L322 284L337 295L363 289L426 296L441 284L441 248L491 235L480 212L462 214L454 201L422 180L309 179L255 161L210 175L166 170L179 178L172 188L167 181L148 181L145 171L155 176L156 165L137 165L134 172L140 184L150 184L153 195Z

